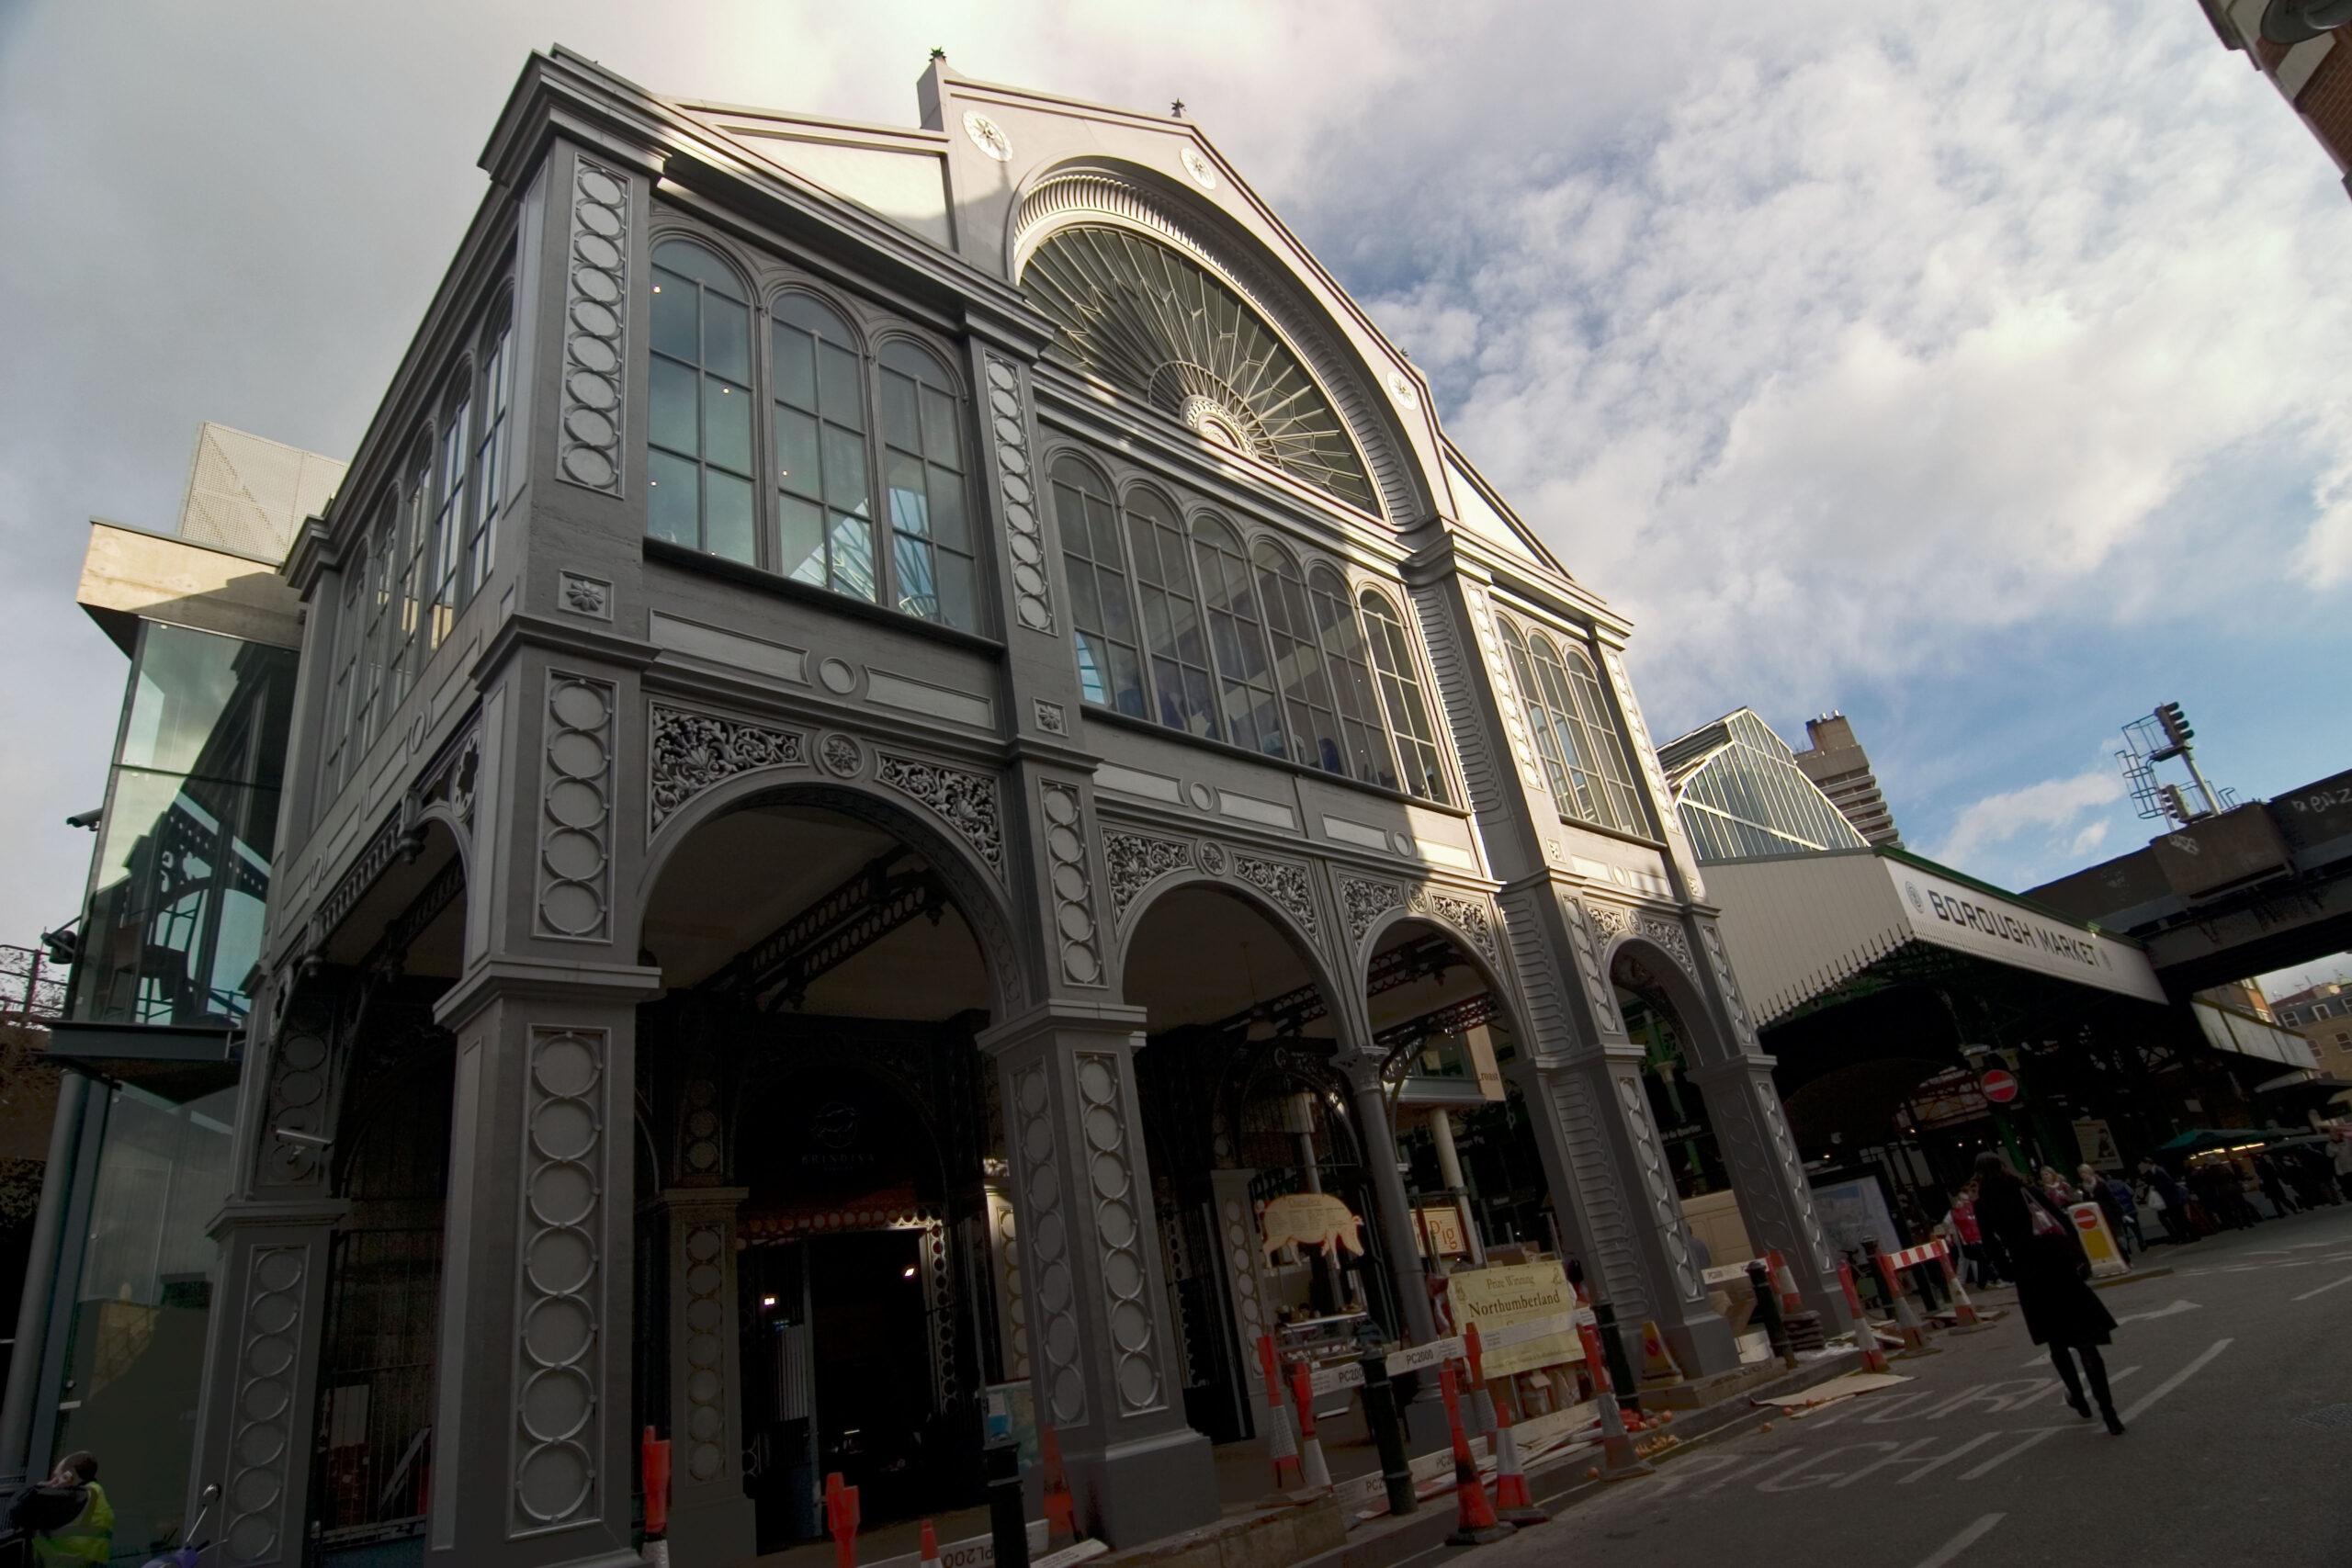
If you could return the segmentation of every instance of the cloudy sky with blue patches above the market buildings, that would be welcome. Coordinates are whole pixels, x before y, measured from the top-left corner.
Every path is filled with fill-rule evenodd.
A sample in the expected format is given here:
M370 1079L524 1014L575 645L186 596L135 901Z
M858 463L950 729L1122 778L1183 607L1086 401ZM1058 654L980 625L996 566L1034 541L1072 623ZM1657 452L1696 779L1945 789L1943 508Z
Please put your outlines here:
M169 527L205 418L350 456L555 40L884 122L931 45L1181 96L1635 616L1656 733L1839 708L1962 870L2143 842L2159 701L2246 797L2352 766L2352 202L2194 0L7 0L0 943L87 872L85 520Z

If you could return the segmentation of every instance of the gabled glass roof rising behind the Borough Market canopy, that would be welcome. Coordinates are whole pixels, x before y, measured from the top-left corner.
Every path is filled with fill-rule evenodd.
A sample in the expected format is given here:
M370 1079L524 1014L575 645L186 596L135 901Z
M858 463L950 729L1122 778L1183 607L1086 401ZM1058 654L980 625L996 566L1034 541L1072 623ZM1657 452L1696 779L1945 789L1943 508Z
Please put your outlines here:
M1752 708L1658 748L1675 811L1700 863L1865 846L1792 757Z

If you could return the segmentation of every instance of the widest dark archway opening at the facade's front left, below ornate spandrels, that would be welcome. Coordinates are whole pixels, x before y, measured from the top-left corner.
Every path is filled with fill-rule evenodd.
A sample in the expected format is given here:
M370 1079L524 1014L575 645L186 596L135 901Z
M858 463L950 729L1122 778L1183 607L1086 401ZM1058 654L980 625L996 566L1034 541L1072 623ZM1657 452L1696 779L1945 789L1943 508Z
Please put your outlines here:
M861 1486L868 1526L976 1502L974 1401L1014 1361L990 1288L1002 1135L974 1046L1009 983L985 872L830 785L675 832L642 926L663 994L637 1013L659 1237L637 1267L663 1307L637 1389L675 1441L673 1552L720 1563L821 1535L830 1472Z

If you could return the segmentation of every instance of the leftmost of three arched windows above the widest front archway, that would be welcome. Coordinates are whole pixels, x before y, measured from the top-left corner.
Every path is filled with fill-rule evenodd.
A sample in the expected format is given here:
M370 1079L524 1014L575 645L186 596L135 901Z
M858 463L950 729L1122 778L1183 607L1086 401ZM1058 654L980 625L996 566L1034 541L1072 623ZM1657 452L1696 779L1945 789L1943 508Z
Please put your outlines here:
M750 306L734 270L691 240L654 247L652 374L644 531L753 562Z

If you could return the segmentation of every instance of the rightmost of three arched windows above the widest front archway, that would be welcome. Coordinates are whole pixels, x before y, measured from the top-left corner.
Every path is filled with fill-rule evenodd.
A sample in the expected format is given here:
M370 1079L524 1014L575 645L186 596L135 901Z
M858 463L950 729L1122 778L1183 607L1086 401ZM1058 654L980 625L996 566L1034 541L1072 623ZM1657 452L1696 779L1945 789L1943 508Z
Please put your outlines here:
M971 522L955 383L906 339L882 346L882 489L898 609L974 630Z

